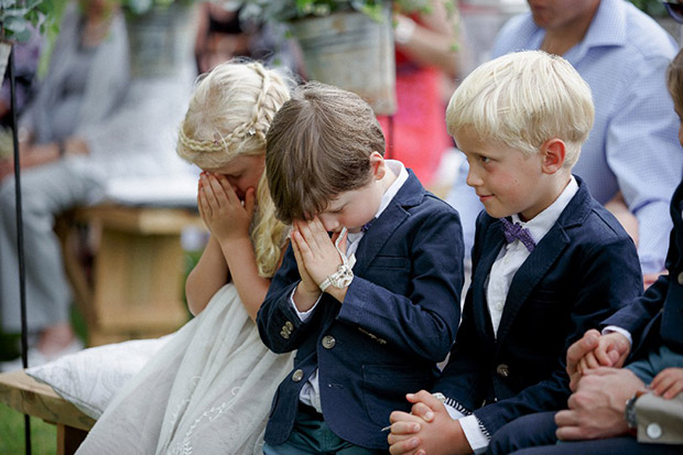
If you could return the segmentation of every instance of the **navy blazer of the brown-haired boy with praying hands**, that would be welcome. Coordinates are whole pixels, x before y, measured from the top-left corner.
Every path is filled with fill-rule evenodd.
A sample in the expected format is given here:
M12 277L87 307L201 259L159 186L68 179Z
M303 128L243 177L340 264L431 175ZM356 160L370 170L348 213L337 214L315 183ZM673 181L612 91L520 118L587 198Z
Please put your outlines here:
M299 393L319 368L323 415L332 431L359 446L387 448L381 429L389 414L410 409L406 392L434 384L435 364L454 343L463 253L457 212L410 171L358 245L344 303L324 293L305 323L290 303L300 275L288 248L257 317L271 350L297 349L273 398L265 441L286 441Z

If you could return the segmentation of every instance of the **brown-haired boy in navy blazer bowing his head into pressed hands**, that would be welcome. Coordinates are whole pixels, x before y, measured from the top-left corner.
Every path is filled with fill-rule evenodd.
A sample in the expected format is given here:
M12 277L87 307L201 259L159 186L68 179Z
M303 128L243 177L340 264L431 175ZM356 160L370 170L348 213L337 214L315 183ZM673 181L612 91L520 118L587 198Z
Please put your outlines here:
M267 143L277 215L293 231L257 322L269 348L296 357L263 451L386 453L389 414L432 387L455 338L457 213L383 159L379 123L351 93L294 90Z

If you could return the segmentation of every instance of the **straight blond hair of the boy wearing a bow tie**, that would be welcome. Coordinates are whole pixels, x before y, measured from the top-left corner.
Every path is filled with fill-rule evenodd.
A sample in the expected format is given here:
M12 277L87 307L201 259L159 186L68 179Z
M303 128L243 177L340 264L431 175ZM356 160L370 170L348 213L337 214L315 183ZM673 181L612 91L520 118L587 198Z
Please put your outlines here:
M549 139L561 139L566 169L578 160L593 119L588 84L567 61L543 51L511 53L477 67L446 110L452 136L473 128L483 140L527 155L538 153Z

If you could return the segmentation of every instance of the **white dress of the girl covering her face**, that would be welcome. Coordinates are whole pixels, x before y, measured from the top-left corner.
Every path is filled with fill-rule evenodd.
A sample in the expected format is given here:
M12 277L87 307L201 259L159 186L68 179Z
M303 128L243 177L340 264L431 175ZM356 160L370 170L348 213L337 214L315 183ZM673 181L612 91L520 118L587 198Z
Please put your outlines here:
M275 355L226 284L121 389L78 454L261 454L291 354Z

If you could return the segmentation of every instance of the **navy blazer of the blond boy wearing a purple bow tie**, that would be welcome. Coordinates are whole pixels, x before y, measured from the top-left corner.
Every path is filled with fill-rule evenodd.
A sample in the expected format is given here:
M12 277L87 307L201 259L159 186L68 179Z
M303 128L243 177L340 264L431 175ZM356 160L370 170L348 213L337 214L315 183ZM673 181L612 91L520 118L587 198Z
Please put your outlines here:
M578 192L514 274L497 336L486 283L505 238L499 219L485 212L477 219L463 322L433 390L474 411L489 434L523 414L565 408L566 348L642 293L633 241L576 181Z

